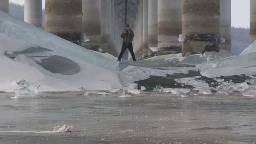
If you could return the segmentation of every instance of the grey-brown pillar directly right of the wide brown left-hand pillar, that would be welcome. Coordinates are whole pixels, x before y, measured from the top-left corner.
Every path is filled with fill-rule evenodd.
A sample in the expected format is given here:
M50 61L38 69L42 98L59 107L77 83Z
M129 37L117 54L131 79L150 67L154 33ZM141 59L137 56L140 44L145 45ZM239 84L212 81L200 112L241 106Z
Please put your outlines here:
M82 0L82 32L90 41L83 46L101 47L101 0Z

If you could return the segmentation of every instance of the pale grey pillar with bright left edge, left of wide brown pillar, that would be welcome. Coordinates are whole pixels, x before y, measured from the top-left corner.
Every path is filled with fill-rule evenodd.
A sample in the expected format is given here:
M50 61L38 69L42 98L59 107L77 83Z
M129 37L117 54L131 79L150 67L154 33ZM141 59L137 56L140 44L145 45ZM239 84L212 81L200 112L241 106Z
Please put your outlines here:
M25 0L24 21L42 27L42 0Z

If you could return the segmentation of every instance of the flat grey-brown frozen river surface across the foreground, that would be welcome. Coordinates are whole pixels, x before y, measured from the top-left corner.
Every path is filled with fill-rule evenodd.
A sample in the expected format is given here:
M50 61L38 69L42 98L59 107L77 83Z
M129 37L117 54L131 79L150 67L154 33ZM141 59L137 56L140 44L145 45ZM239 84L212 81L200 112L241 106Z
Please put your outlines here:
M9 99L0 93L0 144L255 144L256 99L143 92L132 98L83 92ZM72 125L71 133L52 131ZM35 131L35 132L34 132Z

